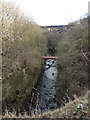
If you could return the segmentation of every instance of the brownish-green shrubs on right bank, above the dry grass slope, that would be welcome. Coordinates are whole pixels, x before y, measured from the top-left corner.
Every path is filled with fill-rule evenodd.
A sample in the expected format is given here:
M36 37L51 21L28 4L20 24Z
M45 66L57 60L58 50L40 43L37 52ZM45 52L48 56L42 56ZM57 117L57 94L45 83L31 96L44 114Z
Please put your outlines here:
M57 47L58 75L57 100L64 105L74 94L83 96L88 89L88 22L80 23L61 33Z

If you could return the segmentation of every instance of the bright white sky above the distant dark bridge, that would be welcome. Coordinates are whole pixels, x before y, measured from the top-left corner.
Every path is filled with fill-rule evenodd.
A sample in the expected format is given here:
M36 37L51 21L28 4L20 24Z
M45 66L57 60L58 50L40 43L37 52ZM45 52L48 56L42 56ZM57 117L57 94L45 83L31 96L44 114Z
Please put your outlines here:
M39 25L64 25L88 13L89 0L6 0L13 1Z

